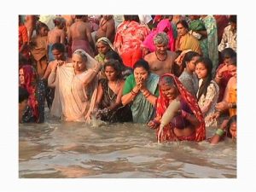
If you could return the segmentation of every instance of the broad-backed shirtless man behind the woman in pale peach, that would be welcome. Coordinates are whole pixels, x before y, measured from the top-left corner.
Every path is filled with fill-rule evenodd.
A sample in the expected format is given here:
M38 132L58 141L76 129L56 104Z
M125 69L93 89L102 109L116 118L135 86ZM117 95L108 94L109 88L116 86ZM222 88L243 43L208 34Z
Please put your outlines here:
M67 34L67 44L71 46L72 54L76 49L84 49L94 57L95 45L91 38L90 24L84 22L84 15L76 15L76 21L70 26Z

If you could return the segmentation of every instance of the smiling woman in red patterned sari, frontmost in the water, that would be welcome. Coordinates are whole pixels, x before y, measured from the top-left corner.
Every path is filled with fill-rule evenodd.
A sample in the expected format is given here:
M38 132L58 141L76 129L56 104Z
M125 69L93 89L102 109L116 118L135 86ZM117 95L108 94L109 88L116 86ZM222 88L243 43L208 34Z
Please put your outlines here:
M183 84L171 73L160 77L160 96L156 102L156 116L148 122L148 126L156 129L159 142L165 141L196 141L201 142L206 138L206 127L201 109L195 96L192 96ZM172 101L180 102L179 110L171 122L163 129L160 128L166 109ZM162 123L162 122L161 122Z

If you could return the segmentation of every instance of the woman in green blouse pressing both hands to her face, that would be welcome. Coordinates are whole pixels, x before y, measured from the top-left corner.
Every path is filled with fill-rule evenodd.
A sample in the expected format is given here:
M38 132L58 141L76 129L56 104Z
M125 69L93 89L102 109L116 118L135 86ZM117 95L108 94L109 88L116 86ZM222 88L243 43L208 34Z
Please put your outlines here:
M154 114L159 76L149 72L148 62L139 60L134 72L125 80L122 104L131 103L132 119L135 123L147 123Z

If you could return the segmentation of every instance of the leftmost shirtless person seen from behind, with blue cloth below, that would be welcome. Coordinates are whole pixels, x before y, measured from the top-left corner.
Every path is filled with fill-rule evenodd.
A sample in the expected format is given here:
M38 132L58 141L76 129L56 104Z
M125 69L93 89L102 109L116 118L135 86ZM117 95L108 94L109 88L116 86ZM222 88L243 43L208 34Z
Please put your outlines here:
M64 27L66 25L66 20L62 17L56 17L54 20L55 28L48 32L48 61L54 61L55 57L51 52L52 45L55 43L66 44L66 32Z

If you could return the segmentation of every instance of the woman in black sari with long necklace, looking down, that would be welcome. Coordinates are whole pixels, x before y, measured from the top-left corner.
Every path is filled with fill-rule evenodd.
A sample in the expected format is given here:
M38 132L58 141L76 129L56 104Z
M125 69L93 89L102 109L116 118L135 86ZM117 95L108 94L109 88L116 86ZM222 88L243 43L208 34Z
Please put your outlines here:
M96 118L112 123L132 121L131 108L121 102L125 81L119 61L105 62L104 73L107 78L100 79L96 96Z

